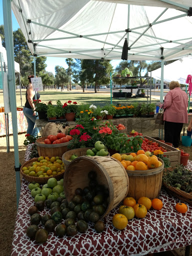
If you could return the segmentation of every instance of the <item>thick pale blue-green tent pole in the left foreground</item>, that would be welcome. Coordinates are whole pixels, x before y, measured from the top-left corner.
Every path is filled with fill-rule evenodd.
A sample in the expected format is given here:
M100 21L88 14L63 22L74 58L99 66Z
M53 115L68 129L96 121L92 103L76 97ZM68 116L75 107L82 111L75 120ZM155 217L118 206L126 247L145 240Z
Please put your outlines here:
M16 172L16 204L18 207L20 193L20 164L18 156L18 130L17 130L17 115L16 115L16 92L14 78L14 52L13 52L13 36L12 36L12 20L11 20L11 0L2 1L4 35L7 54L8 66L8 89L10 98L10 109L12 115L12 131L14 144L14 168Z

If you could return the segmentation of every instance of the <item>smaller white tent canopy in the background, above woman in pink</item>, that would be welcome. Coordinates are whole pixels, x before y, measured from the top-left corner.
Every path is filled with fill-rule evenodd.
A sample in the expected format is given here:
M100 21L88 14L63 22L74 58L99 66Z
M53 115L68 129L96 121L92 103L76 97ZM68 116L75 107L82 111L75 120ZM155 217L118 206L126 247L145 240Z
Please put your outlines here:
M192 75L192 56L178 59L168 65L164 65L163 80L170 82L172 80L179 83L186 84L187 75ZM153 70L151 76L157 80L161 77L161 68Z

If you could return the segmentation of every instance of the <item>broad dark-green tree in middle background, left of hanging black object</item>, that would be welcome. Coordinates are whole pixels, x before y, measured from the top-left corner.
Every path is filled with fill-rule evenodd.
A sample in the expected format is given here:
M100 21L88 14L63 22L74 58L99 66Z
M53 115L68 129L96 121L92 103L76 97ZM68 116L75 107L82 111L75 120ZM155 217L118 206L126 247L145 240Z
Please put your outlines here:
M95 82L94 92L101 84L107 84L110 81L110 71L112 65L107 59L82 59L81 68L86 73L88 82Z

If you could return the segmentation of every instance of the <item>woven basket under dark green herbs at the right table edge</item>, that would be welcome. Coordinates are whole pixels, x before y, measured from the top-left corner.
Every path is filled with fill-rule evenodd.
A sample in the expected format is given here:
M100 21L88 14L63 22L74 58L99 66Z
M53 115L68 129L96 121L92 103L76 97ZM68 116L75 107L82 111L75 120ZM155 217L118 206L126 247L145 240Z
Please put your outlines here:
M173 170L174 168L167 168L168 170ZM166 171L166 170L165 170ZM192 194L186 193L182 190L178 190L173 186L168 186L165 182L162 181L162 185L164 186L165 190L170 193L172 196L177 197L181 201L188 202L188 204L192 205Z

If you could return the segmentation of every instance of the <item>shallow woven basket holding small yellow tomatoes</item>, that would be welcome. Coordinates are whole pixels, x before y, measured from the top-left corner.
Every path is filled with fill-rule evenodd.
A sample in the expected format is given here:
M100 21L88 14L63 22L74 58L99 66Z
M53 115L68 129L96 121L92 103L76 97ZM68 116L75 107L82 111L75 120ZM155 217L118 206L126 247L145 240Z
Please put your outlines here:
M61 157L59 157L59 159L62 160ZM28 180L29 182L35 181L35 182L37 182L37 183L39 183L39 184L45 184L45 183L47 182L47 180L48 180L49 178L51 178L51 177L40 177L40 178L39 178L39 177L33 177L33 176L29 176L29 175L24 174L23 171L22 171L22 167L24 167L24 166L28 167L28 166L31 164L31 162L35 162L35 161L37 161L37 160L38 160L38 157L35 157L35 158L32 158L32 159L30 159L30 160L24 162L24 163L22 164L22 166L20 167L20 173L21 173L21 175L23 176L23 178L26 179L26 180ZM60 173L60 174L58 174L58 175L54 175L53 177L58 180L58 179L60 179L60 178L63 178L63 174L64 174L64 173Z

